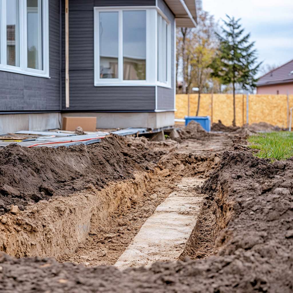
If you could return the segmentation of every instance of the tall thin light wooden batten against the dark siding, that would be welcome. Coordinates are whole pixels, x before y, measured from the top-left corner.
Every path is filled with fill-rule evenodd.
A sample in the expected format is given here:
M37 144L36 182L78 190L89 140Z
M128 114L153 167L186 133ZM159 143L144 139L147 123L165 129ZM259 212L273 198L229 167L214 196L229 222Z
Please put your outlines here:
M65 0L65 108L69 108L69 9Z

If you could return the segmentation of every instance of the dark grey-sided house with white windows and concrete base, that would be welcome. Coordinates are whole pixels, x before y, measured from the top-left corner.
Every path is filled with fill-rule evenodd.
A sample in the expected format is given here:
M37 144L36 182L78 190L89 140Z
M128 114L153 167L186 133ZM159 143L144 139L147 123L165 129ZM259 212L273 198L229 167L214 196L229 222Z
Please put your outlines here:
M196 25L195 0L0 0L0 132L173 125L176 26ZM65 77L69 73L69 91Z

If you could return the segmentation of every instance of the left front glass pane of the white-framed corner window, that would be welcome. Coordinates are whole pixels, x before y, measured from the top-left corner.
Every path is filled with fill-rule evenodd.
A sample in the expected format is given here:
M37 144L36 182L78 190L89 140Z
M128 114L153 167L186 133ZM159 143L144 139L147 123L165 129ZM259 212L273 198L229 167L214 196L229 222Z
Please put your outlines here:
M118 78L118 12L100 12L100 78Z

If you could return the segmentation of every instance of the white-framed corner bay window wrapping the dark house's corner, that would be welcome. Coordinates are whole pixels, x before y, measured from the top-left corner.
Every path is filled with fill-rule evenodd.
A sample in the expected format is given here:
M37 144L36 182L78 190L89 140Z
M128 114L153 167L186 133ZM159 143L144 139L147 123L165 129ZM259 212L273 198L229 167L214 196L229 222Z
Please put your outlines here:
M94 8L95 86L171 87L171 23L156 8Z

